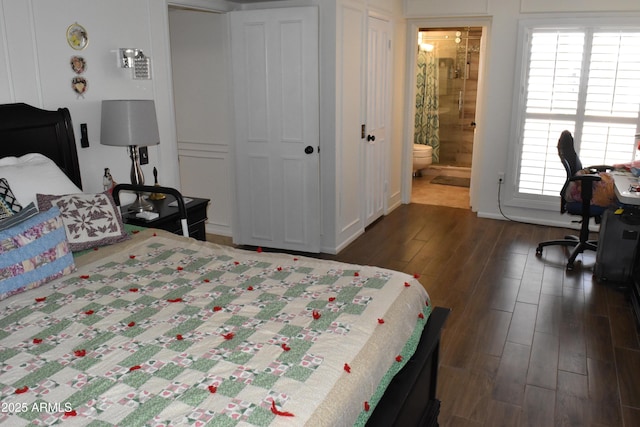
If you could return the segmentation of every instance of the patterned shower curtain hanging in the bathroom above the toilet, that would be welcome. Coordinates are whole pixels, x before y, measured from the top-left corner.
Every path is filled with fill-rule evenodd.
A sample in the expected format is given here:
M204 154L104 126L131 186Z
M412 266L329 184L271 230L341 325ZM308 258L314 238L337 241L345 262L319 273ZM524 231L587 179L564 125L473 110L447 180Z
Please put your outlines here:
M438 61L433 51L418 51L414 143L433 147L433 163L440 160L438 118Z

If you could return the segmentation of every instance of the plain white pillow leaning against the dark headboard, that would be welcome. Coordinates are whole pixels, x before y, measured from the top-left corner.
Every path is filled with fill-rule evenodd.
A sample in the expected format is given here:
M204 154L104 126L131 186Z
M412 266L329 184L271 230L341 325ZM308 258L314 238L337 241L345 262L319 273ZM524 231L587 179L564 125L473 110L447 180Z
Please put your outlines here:
M6 178L13 195L22 206L37 204L36 193L82 193L53 160L38 153L0 159L0 178Z

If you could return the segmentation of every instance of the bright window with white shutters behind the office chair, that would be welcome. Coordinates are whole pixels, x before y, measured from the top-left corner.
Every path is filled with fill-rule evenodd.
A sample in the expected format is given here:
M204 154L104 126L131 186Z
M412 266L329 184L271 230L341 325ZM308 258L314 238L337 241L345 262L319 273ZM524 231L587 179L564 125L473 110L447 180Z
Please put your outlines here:
M574 135L583 165L629 162L640 128L640 27L529 28L517 191L558 196L556 148Z

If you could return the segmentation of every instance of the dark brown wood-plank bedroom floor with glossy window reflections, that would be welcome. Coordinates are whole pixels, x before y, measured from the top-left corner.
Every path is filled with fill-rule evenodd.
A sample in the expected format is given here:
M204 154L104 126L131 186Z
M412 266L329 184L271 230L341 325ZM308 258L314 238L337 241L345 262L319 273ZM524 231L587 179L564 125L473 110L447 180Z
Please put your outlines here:
M418 273L449 307L442 336L441 426L638 426L640 344L624 291L592 278L595 254L565 271L539 241L568 230L402 205L339 261Z

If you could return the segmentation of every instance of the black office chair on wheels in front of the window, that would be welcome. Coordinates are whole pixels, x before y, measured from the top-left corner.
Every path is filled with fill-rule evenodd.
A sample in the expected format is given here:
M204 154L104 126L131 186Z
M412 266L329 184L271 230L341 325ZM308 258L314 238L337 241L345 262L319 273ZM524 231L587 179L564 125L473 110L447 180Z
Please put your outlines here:
M573 270L573 263L576 257L586 250L596 251L598 249L597 240L589 240L589 221L591 218L595 219L596 224L600 223L600 219L607 206L592 205L591 199L593 197L593 183L601 181L597 172L605 172L611 170L611 166L589 166L590 174L576 175L576 173L583 169L582 162L573 147L573 136L571 132L565 130L558 139L558 156L560 161L567 172L567 180L562 186L560 191L560 212L568 213L570 215L579 215L580 222L580 234L578 236L565 236L564 239L550 240L547 242L541 242L536 248L536 255L542 255L542 248L545 246L561 245L566 247L572 247L571 255L567 261L567 270ZM565 193L567 187L572 181L580 181L580 196L581 202L568 202L565 199Z

